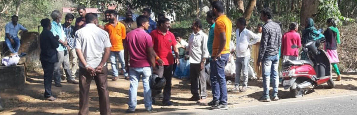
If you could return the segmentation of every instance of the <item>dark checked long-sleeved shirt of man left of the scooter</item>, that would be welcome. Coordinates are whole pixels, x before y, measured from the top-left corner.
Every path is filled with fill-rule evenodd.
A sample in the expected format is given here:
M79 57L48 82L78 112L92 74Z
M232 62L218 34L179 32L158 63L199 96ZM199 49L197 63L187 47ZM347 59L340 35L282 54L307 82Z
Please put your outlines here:
M268 20L262 29L258 62L262 62L267 55L276 55L281 46L281 29L279 24Z

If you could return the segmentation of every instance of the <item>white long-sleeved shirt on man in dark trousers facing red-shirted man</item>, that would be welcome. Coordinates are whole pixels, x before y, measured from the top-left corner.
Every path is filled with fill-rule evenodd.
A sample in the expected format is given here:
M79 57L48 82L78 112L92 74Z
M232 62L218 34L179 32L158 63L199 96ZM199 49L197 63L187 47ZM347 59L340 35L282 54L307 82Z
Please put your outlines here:
M192 33L188 40L188 50L190 55L190 63L199 64L203 58L207 58L209 53L207 49L207 34L202 30L198 33Z

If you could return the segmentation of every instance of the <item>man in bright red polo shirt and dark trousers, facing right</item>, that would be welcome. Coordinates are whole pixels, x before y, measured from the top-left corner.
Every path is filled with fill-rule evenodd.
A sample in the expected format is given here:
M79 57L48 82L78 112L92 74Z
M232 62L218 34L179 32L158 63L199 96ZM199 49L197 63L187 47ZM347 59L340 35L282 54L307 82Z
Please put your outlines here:
M163 63L158 63L159 66L155 67L154 73L159 75L159 77L164 76L166 79L166 84L164 88L164 98L162 99L162 104L164 105L172 105L170 102L171 97L171 78L172 78L172 70L174 61L177 62L178 65L178 49L176 48L176 39L174 34L169 31L170 28L170 20L167 18L161 18L158 21L158 28L151 31L150 35L152 38L152 43L154 44L154 50L157 54L156 60L161 59ZM174 49L176 59L174 60L174 56L172 55L172 49ZM163 65L163 66L162 66ZM153 92L153 96L155 92ZM154 103L154 101L153 101Z

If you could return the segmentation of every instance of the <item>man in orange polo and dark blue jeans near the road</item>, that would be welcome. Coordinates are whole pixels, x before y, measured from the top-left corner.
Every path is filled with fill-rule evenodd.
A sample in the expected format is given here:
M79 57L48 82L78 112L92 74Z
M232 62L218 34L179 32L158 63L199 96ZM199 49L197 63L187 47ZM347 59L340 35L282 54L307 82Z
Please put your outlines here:
M227 84L225 66L227 65L230 49L229 43L232 35L232 22L224 14L221 1L213 1L212 12L216 15L214 39L211 54L211 87L213 100L208 103L212 110L227 110Z

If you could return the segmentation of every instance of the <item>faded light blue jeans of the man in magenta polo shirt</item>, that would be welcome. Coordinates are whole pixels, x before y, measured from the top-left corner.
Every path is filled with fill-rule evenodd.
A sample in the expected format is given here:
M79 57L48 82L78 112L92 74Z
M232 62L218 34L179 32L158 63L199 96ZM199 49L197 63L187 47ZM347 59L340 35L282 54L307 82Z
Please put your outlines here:
M139 79L142 75L142 85L144 86L144 104L146 110L151 110L152 98L150 89L150 76L152 73L151 67L130 67L130 87L129 87L129 110L135 111L136 107L136 94L137 86L139 85Z

